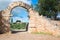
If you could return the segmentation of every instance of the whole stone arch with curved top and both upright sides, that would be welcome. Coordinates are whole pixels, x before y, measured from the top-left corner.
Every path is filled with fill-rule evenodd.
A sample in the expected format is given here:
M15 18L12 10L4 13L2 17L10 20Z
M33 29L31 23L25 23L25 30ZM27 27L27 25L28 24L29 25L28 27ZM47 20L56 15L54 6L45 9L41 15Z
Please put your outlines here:
M12 9L14 9L15 7L23 7L25 9L27 9L28 13L29 13L29 25L28 25L28 32L31 32L31 29L35 29L36 28L36 15L38 15L29 5L27 5L26 3L23 2L13 2L11 4L9 4L9 6L3 10L2 12L2 20L3 20L3 26L4 26L4 32L9 32L10 31L10 16L11 16L11 11ZM8 30L8 31L7 31Z

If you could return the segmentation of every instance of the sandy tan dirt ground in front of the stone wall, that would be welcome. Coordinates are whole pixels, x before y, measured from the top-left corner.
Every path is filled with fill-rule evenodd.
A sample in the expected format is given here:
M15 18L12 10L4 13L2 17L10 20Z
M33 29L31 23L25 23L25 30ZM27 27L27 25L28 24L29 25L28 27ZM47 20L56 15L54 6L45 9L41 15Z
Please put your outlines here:
M1 34L0 40L60 40L60 38L50 35L29 34L27 32L19 32L15 34Z

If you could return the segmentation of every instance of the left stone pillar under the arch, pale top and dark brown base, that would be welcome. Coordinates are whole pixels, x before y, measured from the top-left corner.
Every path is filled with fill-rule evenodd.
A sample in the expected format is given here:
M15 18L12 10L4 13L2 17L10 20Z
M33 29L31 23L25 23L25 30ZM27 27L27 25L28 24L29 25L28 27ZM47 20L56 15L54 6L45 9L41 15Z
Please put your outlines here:
M8 12L7 12L8 13ZM1 12L1 21L0 21L0 33L7 33L10 31L10 23L9 23L9 14L6 11Z

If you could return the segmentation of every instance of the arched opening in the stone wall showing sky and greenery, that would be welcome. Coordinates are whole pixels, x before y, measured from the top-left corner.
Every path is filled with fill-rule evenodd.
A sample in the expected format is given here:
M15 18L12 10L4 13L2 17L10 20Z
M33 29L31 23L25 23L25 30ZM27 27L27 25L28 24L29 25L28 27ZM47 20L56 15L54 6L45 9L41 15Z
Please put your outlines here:
M29 14L27 9L16 6L14 7L10 13L12 16L10 17L10 29L12 32L14 31L28 31L29 25Z

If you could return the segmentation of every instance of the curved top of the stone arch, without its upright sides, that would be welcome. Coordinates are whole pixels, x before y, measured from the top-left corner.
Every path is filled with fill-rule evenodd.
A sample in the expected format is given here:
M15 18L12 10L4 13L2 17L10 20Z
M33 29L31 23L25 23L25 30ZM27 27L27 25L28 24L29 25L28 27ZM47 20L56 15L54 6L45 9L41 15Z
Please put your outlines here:
M26 3L23 3L21 1L18 1L18 2L13 2L11 3L8 7L7 7L7 10L11 11L12 9L14 9L15 7L23 7L25 9L27 9L27 11L29 11L29 9L31 8L30 5L26 4ZM32 8L31 8L32 9Z

